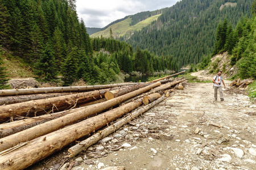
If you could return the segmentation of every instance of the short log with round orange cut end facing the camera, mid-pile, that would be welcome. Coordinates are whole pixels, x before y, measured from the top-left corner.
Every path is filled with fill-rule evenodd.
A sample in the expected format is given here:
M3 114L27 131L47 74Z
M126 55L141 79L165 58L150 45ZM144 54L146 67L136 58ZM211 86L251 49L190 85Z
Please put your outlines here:
M146 87L148 85L149 85L148 83L143 83L143 84L139 84L137 86L125 87L125 88L121 88L121 89L113 90L113 91L106 91L104 96L105 96L106 100L110 100L110 99L114 99L114 97L122 96L131 91L138 90L139 88Z

